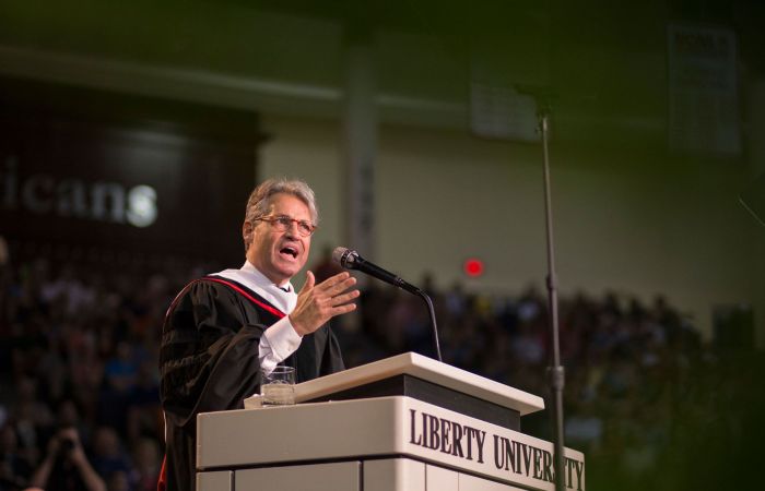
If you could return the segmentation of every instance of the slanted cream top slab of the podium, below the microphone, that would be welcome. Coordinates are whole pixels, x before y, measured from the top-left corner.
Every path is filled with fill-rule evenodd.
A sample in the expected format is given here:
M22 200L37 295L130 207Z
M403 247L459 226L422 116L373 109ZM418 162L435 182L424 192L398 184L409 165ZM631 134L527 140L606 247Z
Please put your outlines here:
M295 402L303 403L396 375L411 375L471 395L521 416L544 409L533 394L448 366L415 352L405 352L295 385Z

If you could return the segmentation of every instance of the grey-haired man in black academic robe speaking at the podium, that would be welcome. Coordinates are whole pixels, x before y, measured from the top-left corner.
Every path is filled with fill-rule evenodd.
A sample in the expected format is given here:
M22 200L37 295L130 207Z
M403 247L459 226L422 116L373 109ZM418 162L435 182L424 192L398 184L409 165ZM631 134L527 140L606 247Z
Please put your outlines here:
M280 362L295 368L297 382L343 370L327 323L355 309L355 278L343 272L316 285L307 272L298 294L291 284L308 260L317 223L305 182L262 182L242 225L244 266L191 282L170 304L160 352L166 441L160 490L196 489L199 412L243 408Z

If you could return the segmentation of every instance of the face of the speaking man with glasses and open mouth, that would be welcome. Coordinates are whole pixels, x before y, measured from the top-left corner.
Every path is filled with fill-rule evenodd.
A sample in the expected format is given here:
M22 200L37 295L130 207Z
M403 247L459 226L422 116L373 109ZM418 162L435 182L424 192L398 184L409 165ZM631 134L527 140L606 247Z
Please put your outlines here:
M284 193L271 196L271 205L266 216L289 216L313 223L308 206L298 197ZM252 233L247 260L275 285L285 284L308 261L310 236L301 236L294 223L286 230L278 231L269 221L245 221L242 231L245 237Z

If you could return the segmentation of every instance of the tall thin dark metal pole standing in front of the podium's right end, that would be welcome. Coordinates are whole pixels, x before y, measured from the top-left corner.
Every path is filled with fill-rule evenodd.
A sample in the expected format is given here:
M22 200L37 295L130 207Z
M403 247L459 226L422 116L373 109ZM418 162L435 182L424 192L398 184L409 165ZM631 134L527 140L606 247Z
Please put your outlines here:
M555 276L555 252L553 248L553 212L550 197L550 154L548 149L550 110L542 101L539 108L539 130L542 133L544 151L544 217L548 231L548 302L550 308L550 327L553 337L552 367L548 368L550 390L553 396L553 438L555 442L555 490L565 489L565 458L563 442L563 386L565 373L561 366L561 343L557 323L557 278Z

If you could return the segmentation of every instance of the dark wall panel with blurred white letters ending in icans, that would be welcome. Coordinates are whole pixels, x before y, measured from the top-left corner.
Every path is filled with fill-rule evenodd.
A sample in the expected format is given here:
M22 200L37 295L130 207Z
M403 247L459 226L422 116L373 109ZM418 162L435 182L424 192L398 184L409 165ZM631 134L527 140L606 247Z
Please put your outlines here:
M195 108L197 119L205 110ZM188 111L175 120L89 118L0 100L0 235L16 249L66 244L237 264L258 139L188 128Z

